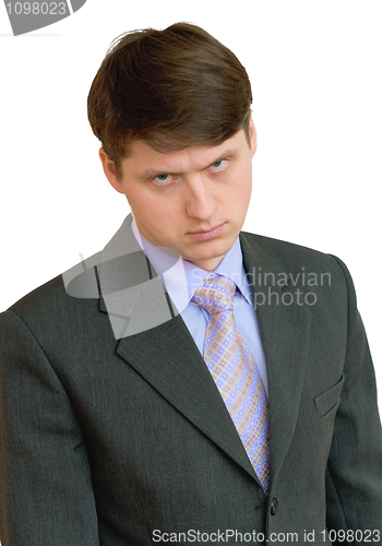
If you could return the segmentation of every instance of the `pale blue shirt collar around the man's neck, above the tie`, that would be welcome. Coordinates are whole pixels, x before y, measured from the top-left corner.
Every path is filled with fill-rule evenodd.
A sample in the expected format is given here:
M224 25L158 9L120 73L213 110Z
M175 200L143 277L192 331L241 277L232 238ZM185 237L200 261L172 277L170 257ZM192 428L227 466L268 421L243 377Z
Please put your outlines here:
M192 299L196 288L202 284L207 271L198 268L181 257L170 254L163 248L156 247L139 232L135 221L131 224L132 232L143 252L165 285L168 295L181 312ZM239 237L223 258L215 273L225 275L239 288L247 301L252 304L251 290L248 286L246 270L242 263L242 253Z

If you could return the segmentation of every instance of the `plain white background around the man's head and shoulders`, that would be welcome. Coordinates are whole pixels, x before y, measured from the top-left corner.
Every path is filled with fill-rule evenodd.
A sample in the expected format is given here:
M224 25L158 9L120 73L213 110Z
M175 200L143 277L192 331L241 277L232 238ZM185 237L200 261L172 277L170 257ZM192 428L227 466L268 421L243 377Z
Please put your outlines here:
M109 43L188 21L253 86L259 147L244 228L342 258L357 288L382 407L380 1L87 0L13 37L0 4L0 310L99 250L128 213L108 185L86 97Z

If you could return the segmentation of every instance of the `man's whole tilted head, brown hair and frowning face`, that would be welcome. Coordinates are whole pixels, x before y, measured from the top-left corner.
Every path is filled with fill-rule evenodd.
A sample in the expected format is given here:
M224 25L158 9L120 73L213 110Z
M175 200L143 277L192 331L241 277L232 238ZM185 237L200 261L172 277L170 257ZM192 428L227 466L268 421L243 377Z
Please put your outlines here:
M139 230L208 271L246 217L256 146L251 100L235 55L186 23L124 35L89 92L105 174Z

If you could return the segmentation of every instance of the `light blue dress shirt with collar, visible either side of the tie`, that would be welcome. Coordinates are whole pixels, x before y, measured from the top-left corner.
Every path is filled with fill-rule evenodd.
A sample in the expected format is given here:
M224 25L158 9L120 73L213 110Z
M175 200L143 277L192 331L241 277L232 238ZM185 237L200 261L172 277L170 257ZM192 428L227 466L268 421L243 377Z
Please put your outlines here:
M159 275L169 297L180 312L181 318L186 322L187 328L203 356L208 313L198 304L192 301L192 297L208 272L198 268L188 260L182 260L181 258L177 260L172 256L169 256L164 249L150 242L139 232L134 219L132 221L131 227L138 244ZM215 273L227 276L234 281L237 286L234 296L236 328L244 337L251 349L267 394L265 356L260 336L258 316L253 308L251 290L248 286L246 270L242 263L239 237L216 268Z

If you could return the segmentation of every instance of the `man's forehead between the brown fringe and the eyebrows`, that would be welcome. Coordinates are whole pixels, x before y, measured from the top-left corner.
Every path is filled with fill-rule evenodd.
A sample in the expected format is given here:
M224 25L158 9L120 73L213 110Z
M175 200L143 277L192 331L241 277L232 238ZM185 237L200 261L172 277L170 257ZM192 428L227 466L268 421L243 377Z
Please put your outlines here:
M199 144L166 154L153 150L144 141L135 141L130 145L130 154L122 159L121 165L123 171L141 177L160 173L183 174L205 169L226 156L229 158L238 154L243 145L248 146L243 130L218 145Z

